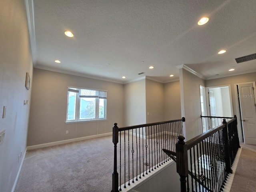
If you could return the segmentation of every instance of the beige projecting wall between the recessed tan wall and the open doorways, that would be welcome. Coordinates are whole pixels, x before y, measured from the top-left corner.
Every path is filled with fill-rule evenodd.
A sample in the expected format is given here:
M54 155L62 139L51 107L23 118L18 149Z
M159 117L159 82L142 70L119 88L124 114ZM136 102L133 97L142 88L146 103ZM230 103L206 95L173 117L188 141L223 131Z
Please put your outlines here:
M202 134L200 85L205 86L204 80L187 70L180 69L181 114L186 118L186 140Z

